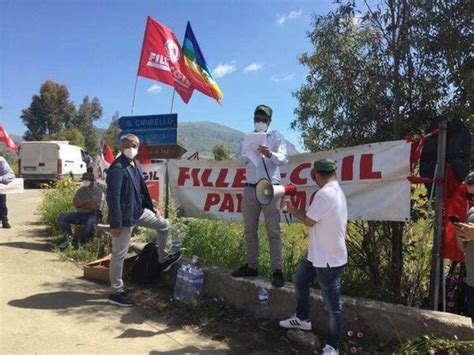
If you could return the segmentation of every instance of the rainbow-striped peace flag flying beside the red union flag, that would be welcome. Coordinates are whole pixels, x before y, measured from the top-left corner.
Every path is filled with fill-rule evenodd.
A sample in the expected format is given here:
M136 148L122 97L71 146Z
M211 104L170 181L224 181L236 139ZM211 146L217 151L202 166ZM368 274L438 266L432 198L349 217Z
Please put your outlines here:
M184 61L188 67L188 78L193 83L194 88L219 102L224 94L222 94L221 88L217 85L207 67L189 21L184 36L183 52Z

